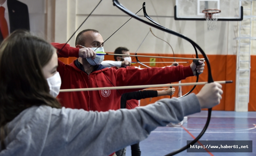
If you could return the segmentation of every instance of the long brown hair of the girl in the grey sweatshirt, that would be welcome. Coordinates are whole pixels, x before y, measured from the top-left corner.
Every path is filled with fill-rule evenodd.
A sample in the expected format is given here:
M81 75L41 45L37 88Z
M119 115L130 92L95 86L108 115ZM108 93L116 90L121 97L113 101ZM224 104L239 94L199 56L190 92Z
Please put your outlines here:
M49 94L44 67L55 52L54 47L27 31L13 32L0 45L0 140L5 148L5 125L31 106L60 108Z

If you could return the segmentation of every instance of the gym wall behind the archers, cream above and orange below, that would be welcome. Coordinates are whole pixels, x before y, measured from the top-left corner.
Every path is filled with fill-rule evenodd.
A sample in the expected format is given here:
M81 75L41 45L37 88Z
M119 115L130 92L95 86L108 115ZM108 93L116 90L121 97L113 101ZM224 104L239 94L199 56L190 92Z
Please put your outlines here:
M208 55L208 58L210 59L214 80L233 80L234 83L223 85L224 94L221 104L214 107L213 109L234 111L236 54L238 51L238 42L237 40L234 40L234 38L238 37L239 22L218 21L217 31L207 31L206 21L175 21L173 17L175 0L120 0L120 3L122 3L133 13L136 13L142 8L144 1L146 2L147 13L150 17L152 17L153 20L165 26L166 28L186 35L195 41L205 51L205 53ZM94 9L98 2L98 0L46 0L46 39L48 39L49 42L65 43L67 39L69 39L70 36L74 33L75 29L78 28L78 26L92 11L92 9ZM253 9L255 11L255 8ZM143 17L143 10L141 10L137 15L141 16L141 18L144 20L147 20ZM99 30L103 39L106 40L129 18L129 16L113 6L112 0L104 0L82 25L75 36L79 33L79 31L83 29L96 29ZM116 47L124 46L127 47L131 53L135 53L148 31L148 25L145 25L135 19L131 19L120 30L118 30L116 34L108 39L106 43L104 43L104 50L106 52L113 52ZM155 35L165 39L170 43L170 45L172 45L175 56L190 58L195 57L194 49L187 41L154 28L152 28L152 31ZM255 34L255 29L252 30L252 36L253 34ZM75 46L75 36L69 41L71 46ZM255 41L252 42L251 47L251 87L248 111L256 111L256 97L254 96L255 90L253 89L253 86L256 84L254 78L256 77L254 72L256 70L254 61L256 59L256 45L254 43ZM160 39L157 39L151 33L148 34L137 53L143 55L173 56L169 45ZM61 60L65 63L71 63L74 59L75 58L62 58ZM106 56L105 60L113 60L113 56ZM149 62L149 58L140 58L140 61ZM156 61L173 60L156 59ZM170 64L156 64L156 67L163 67L168 65ZM189 63L182 65L188 66ZM195 78L182 80L182 82L194 81ZM207 81L207 67L204 73L200 75L199 81ZM201 87L198 86L194 90L194 93L197 93ZM192 88L192 86L182 87L182 93L185 94L190 90L190 88ZM178 91L178 88L176 88L176 91ZM159 98L153 98L152 101L149 101L149 99L141 100L141 105L152 103L157 99Z

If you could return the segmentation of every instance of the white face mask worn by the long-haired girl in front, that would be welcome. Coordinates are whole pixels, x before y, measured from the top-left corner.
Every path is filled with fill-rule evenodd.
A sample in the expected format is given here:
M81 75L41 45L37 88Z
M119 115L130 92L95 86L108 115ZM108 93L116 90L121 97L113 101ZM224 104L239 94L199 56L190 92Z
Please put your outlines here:
M55 73L53 76L46 79L50 88L50 94L53 97L57 97L59 94L59 89L61 88L61 76L59 72Z

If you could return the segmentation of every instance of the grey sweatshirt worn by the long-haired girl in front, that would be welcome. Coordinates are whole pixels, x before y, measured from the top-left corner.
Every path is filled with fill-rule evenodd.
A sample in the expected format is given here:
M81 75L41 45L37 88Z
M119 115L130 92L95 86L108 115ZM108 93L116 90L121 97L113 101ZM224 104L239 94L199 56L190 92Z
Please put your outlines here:
M107 112L33 106L7 124L0 156L108 156L200 111L195 94Z

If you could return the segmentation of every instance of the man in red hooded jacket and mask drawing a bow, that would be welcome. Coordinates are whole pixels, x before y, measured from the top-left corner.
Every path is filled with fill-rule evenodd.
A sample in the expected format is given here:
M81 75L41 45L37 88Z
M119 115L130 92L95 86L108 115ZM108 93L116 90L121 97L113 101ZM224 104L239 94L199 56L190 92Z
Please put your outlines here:
M57 68L61 75L61 89L73 88L93 88L93 87L113 87L128 85L148 85L166 84L177 82L186 77L202 73L205 64L201 61L196 66L165 67L165 68L145 68L145 69L126 69L105 68L101 64L102 58L95 58L96 49L103 43L103 38L97 30L86 29L81 31L76 38L76 48L66 45L59 52L58 57L68 58L77 57L73 63L66 65L60 60ZM64 44L52 43L55 48L60 50ZM103 46L103 45L102 45ZM100 46L100 48L102 47ZM87 47L87 48L82 48ZM103 47L102 47L103 49ZM92 59L94 60L92 60ZM97 63L98 65L96 65ZM108 111L110 109L120 109L121 94L133 92L141 89L122 89L122 90L99 90L84 92L60 93L59 99L63 106L76 109Z

